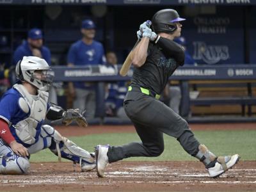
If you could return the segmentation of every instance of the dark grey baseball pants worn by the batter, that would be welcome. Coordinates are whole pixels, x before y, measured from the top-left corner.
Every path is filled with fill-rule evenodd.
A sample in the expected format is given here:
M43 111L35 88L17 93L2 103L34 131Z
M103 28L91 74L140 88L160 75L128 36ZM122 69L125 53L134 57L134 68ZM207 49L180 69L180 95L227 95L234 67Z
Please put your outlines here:
M156 99L156 94L146 95L140 88L127 92L124 108L142 142L112 146L108 150L109 163L127 157L156 157L164 150L163 133L177 138L180 145L192 156L200 143L195 139L188 123L181 116Z

